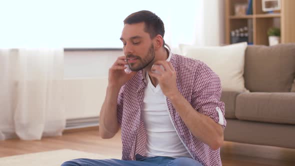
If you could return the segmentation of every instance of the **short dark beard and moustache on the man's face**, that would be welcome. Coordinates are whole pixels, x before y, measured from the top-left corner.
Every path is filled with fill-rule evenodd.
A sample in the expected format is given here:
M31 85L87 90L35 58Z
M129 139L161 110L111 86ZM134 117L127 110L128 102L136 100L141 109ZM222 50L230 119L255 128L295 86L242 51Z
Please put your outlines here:
M136 55L128 54L126 57L135 57L135 58L137 58L137 60L139 60L138 66L135 66L135 64L128 63L130 70L139 71L139 70L145 68L148 64L150 64L153 61L154 54L155 53L154 53L153 44L150 45L146 55L143 57L144 59L141 59L141 57L136 56Z

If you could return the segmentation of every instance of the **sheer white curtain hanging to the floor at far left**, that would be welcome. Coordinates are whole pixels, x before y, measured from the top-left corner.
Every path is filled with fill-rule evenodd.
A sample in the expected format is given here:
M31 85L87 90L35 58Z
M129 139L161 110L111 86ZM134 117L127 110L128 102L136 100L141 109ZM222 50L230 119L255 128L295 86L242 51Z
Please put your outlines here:
M0 140L61 135L63 49L0 49Z

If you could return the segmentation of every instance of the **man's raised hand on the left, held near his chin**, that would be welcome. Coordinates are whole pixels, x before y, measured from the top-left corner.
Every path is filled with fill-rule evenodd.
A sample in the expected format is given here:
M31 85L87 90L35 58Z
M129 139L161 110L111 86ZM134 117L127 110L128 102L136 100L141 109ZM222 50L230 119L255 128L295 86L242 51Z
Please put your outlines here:
M120 88L129 79L131 79L137 72L125 72L125 56L119 56L108 70L108 86Z

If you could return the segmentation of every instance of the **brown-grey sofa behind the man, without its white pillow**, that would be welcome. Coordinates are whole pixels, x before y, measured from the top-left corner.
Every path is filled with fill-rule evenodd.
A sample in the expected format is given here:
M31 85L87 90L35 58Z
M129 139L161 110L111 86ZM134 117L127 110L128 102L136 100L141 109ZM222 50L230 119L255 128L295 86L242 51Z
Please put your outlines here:
M295 148L295 43L247 46L250 92L222 91L224 140Z

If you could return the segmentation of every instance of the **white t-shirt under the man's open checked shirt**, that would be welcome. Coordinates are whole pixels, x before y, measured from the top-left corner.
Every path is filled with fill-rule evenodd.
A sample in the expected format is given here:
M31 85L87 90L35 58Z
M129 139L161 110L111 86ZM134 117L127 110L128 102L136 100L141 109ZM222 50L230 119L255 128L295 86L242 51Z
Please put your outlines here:
M170 59L169 57L167 60ZM145 75L147 86L144 89L141 115L147 134L146 156L191 158L172 124L166 96L162 93L159 84L156 87L153 86L147 72Z

